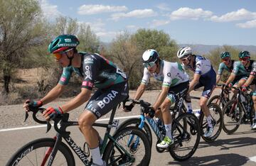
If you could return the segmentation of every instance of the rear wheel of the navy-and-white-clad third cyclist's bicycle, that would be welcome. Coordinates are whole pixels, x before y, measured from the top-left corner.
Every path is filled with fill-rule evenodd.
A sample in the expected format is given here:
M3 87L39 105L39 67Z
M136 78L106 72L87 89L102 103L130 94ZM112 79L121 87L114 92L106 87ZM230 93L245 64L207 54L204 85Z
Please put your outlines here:
M216 140L218 138L218 136L220 135L220 132L223 128L223 112L220 109L220 106L218 106L218 104L211 103L211 104L208 104L207 106L210 110L210 114L213 118L213 121L215 121L215 123L216 123L214 128L215 129L218 128L218 130L212 136L204 137L203 134L205 133L205 130L208 126L208 123L206 121L206 118L205 118L204 114L201 114L199 123L200 123L200 126L201 126L201 137L206 142L211 143L211 142L213 142L214 140ZM218 117L215 118L215 116L218 116Z

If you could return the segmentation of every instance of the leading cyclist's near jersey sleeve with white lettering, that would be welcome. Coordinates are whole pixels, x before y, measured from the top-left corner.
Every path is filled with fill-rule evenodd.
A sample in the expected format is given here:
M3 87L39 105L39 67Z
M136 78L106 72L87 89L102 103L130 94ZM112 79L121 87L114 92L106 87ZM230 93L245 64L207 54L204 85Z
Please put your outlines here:
M98 69L100 68L100 62L95 58L87 56L85 58L85 65L83 65L82 70L84 73L84 79L82 81L82 88L92 90L93 84L96 80Z

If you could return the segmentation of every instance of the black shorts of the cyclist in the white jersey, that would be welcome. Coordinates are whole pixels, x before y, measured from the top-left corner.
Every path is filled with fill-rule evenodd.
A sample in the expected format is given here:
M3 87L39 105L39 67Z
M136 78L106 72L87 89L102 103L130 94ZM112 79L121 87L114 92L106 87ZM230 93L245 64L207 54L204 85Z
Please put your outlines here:
M174 87L169 87L167 98L174 104L179 98L186 96L189 89L189 82L182 82Z

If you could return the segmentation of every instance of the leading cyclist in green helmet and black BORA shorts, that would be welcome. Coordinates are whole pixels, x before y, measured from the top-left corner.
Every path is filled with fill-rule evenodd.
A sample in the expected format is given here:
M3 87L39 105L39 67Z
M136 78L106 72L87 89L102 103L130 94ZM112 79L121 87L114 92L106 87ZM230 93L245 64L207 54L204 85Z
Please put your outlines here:
M78 118L79 128L89 144L92 165L106 165L100 155L99 134L92 128L92 124L127 98L127 77L105 57L97 53L78 52L76 49L78 45L79 40L75 35L59 35L50 43L48 51L53 53L56 61L63 67L63 74L58 84L46 96L39 101L27 100L23 107L29 111L31 107L40 107L58 98L65 90L72 72L83 77L80 94L62 106L49 107L43 112L43 116L46 120L50 120L89 100L85 111ZM90 97L92 87L96 87L97 91Z

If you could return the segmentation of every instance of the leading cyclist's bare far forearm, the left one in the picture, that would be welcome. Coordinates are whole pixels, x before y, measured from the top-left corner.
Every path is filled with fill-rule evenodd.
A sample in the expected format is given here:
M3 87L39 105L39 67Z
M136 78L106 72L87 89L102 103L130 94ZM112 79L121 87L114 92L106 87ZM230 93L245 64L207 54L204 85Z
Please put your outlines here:
M57 99L58 96L60 96L60 94L64 91L64 89L65 85L58 83L55 87L53 87L53 89L50 90L50 92L48 92L48 94L46 94L46 96L43 97L43 99L41 99L41 101L43 104L50 103L51 101Z

